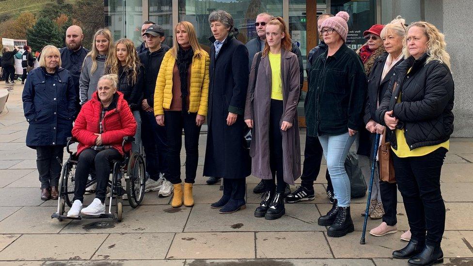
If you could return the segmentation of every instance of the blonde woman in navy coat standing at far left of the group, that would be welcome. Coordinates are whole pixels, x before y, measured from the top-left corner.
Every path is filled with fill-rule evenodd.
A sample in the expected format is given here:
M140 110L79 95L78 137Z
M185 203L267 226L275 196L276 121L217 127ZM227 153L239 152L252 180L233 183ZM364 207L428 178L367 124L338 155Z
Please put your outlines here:
M71 74L61 67L58 48L44 47L39 65L29 73L23 89L23 110L30 124L26 145L36 149L41 200L46 201L59 196L60 162L71 136L76 91Z

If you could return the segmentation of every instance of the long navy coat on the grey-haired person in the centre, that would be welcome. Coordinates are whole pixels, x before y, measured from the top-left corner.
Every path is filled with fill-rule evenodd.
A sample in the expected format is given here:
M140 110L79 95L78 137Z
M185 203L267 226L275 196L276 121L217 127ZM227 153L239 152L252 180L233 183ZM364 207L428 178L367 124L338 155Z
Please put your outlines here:
M204 175L243 178L251 173L249 150L244 145L243 120L248 89L248 50L230 33L215 58L215 38L211 37L210 84L208 88L207 147ZM228 126L228 113L238 114Z

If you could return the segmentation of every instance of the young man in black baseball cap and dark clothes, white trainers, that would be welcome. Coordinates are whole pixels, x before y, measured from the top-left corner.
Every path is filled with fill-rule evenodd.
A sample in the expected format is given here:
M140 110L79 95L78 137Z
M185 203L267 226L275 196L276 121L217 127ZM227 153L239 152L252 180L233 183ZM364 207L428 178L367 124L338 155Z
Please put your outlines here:
M156 78L158 78L159 67L164 54L169 50L168 46L161 45L165 40L164 29L153 24L143 33L148 50L138 55L140 62L144 65L144 95L142 100L142 142L146 153L146 170L150 179L146 181L145 192L158 191L159 196L167 197L173 192L171 182L164 179L167 173L166 140L163 126L156 123L153 111ZM169 183L169 184L168 184Z

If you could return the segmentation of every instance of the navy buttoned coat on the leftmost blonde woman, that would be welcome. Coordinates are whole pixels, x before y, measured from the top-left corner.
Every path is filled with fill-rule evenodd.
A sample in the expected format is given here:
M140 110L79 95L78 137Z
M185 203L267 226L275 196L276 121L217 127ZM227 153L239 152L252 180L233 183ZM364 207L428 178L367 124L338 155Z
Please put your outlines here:
M48 74L42 67L33 69L23 89L23 110L30 123L28 147L65 146L76 114L76 90L69 71L60 67Z

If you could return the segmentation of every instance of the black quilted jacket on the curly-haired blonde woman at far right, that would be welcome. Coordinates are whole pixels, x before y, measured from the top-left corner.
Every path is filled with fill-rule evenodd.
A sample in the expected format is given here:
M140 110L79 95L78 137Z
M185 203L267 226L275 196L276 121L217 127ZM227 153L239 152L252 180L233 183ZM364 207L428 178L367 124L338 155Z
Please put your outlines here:
M453 132L452 112L454 82L450 69L438 61L426 64L427 54L418 60L409 57L394 70L389 88L376 110L377 122L384 123L384 113L394 110L399 119L397 128L404 128L410 150L447 141ZM409 74L408 70L412 67ZM397 97L401 95L401 102ZM388 140L394 149L397 141L394 131Z

